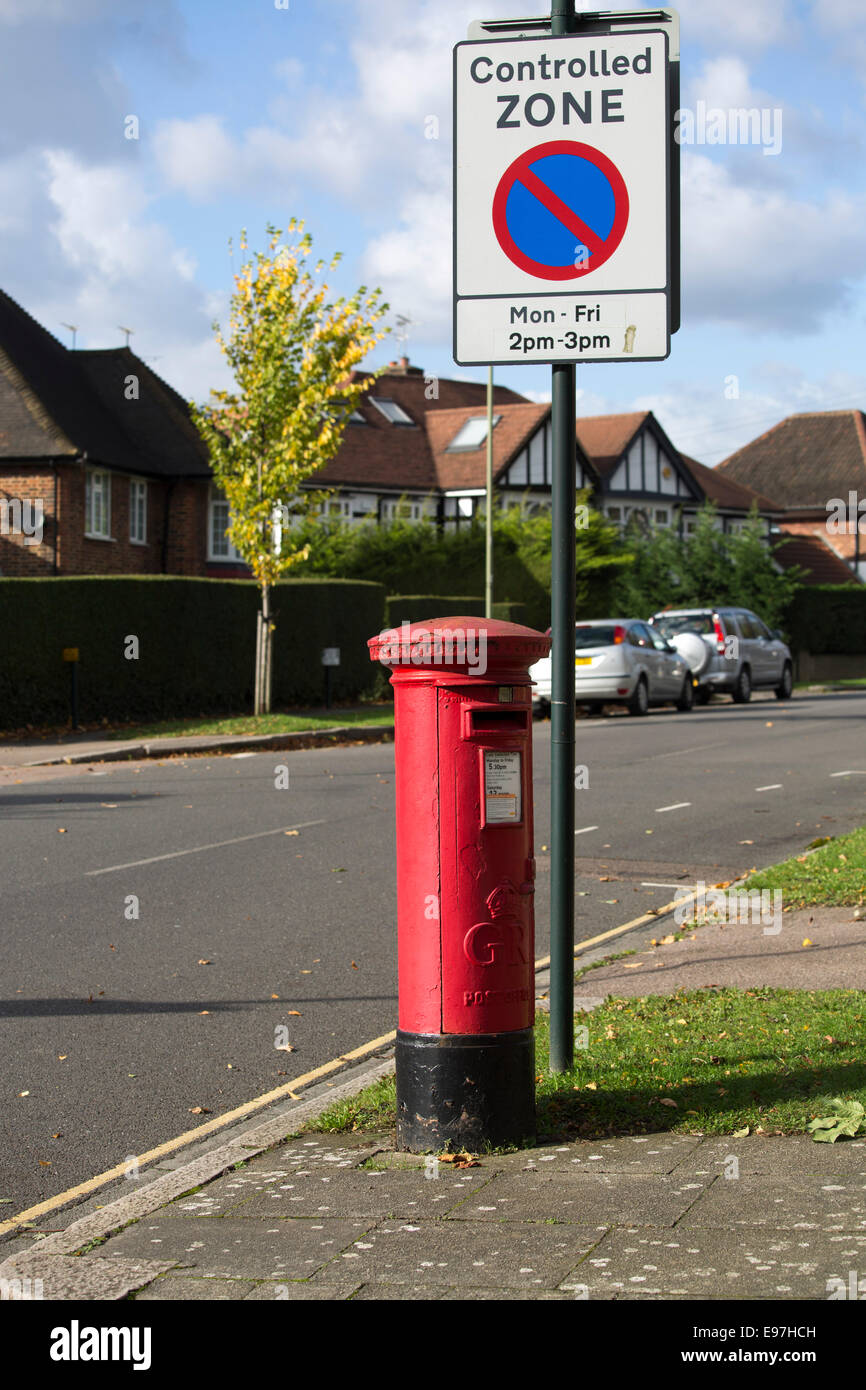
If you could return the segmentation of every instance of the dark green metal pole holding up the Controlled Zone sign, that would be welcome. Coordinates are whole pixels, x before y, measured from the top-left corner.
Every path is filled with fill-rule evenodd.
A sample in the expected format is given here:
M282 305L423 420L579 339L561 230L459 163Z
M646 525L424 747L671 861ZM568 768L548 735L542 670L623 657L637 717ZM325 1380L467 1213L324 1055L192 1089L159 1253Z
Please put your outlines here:
M574 0L552 0L553 38L575 29ZM574 1061L574 496L577 373L553 364L550 482L550 1070Z

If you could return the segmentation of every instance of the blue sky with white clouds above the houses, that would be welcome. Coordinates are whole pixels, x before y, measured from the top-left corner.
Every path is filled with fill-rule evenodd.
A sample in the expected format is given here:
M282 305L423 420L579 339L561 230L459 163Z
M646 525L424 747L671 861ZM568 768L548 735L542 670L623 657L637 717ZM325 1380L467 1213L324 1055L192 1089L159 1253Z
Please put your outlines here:
M228 240L306 220L335 292L381 285L413 363L450 354L450 50L534 0L0 0L0 285L61 341L224 385ZM581 8L581 6L578 6ZM585 6L594 8L594 6ZM683 104L781 110L781 150L684 146L681 331L578 371L716 463L796 410L866 403L866 3L681 0ZM124 136L136 115L139 139ZM439 139L425 138L427 117ZM402 350L393 335L371 364ZM549 370L502 367L534 399Z

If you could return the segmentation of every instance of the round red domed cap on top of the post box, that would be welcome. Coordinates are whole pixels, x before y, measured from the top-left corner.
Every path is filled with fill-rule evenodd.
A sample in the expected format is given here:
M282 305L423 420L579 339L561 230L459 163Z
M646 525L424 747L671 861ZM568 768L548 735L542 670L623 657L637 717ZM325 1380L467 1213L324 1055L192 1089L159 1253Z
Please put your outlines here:
M459 614L431 617L420 623L402 623L385 628L367 642L370 660L382 666L478 669L525 667L550 651L550 638L520 623L502 619Z

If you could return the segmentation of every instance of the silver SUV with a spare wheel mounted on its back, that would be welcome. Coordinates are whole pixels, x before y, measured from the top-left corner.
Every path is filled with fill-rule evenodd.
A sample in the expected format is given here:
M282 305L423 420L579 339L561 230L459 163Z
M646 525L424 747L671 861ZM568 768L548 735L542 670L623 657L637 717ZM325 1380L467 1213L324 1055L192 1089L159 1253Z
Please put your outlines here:
M781 632L740 607L666 609L651 617L655 631L676 646L696 677L698 703L716 691L745 705L753 689L791 699L794 659Z

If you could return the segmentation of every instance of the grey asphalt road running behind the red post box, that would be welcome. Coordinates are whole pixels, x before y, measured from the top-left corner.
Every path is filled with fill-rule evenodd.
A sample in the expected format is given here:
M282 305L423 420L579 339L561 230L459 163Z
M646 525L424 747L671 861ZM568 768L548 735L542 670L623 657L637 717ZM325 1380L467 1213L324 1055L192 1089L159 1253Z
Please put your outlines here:
M865 720L845 694L580 721L578 940L865 823ZM393 1027L391 745L21 778L0 802L0 1219Z

